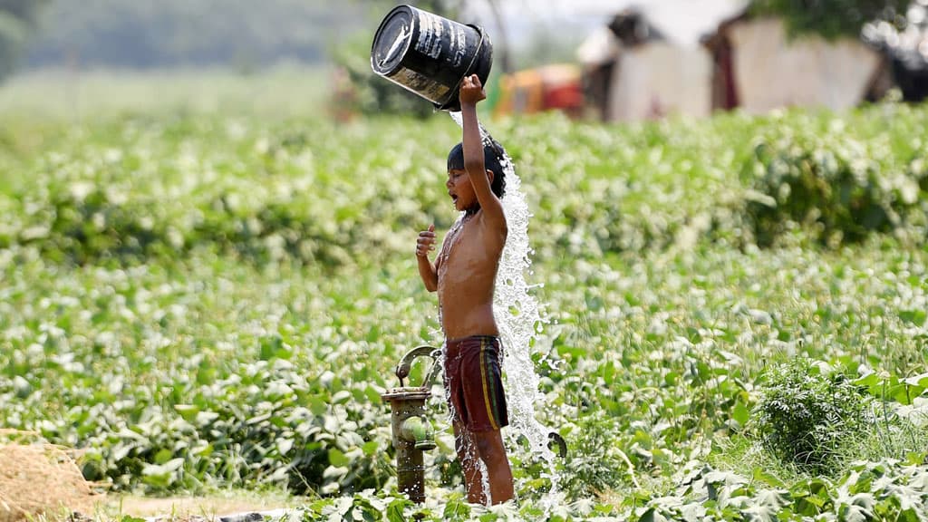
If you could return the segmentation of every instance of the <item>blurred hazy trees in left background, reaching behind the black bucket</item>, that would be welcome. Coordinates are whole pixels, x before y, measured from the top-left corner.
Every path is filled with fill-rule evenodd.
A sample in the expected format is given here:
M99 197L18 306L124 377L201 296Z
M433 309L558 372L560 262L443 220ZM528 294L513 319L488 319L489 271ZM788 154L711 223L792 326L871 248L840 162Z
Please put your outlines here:
M352 0L2 0L0 79L30 68L231 68L251 73L281 62L336 66L362 111L427 115L409 93L379 82L368 64L371 35L395 3ZM458 0L409 4L456 18ZM27 45L28 43L28 45Z

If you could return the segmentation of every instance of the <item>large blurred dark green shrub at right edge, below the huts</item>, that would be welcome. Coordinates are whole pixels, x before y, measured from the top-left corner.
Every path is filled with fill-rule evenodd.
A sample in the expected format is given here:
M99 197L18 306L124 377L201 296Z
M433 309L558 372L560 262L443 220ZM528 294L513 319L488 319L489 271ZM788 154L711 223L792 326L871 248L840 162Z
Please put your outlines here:
M778 129L754 149L747 212L761 246L793 224L823 244L861 241L872 232L905 233L923 221L922 173L906 169L879 140L849 136L841 124Z

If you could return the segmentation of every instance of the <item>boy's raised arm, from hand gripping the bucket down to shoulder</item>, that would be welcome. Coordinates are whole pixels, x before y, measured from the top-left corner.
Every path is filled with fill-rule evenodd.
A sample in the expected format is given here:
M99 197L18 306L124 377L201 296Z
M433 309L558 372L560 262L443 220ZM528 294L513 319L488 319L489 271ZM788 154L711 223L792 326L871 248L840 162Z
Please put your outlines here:
M483 85L476 74L464 78L460 89L461 119L464 127L464 137L461 140L464 148L464 170L470 177L470 183L473 184L477 201L480 202L480 208L488 224L505 230L506 215L503 212L503 203L490 188L490 179L486 176L486 164L483 161L483 139L477 120L477 102L485 98L486 93L483 92Z

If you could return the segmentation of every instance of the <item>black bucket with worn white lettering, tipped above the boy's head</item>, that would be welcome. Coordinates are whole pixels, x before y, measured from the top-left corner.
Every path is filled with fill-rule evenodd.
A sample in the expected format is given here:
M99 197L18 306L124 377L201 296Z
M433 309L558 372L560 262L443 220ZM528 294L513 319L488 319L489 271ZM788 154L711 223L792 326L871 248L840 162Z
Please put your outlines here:
M370 48L374 72L440 111L460 111L461 82L476 74L486 85L492 65L493 44L483 28L412 6L393 7Z

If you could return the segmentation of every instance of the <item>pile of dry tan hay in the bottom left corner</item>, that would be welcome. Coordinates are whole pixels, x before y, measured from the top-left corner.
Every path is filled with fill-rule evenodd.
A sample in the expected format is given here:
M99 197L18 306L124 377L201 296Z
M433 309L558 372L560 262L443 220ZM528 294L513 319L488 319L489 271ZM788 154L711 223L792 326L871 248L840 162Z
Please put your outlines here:
M0 522L93 513L98 498L67 451L0 442Z

